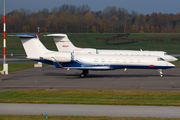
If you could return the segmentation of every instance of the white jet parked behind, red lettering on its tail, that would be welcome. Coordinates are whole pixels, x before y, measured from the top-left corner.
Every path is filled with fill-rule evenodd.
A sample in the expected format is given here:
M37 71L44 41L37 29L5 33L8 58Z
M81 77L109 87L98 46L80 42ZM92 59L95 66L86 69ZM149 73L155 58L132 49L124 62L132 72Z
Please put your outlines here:
M58 51L69 51L74 54L109 54L109 55L143 55L159 56L168 62L174 62L177 58L164 51L136 51L136 50L97 50L94 48L78 48L73 45L66 34L48 34L44 36L53 37Z

